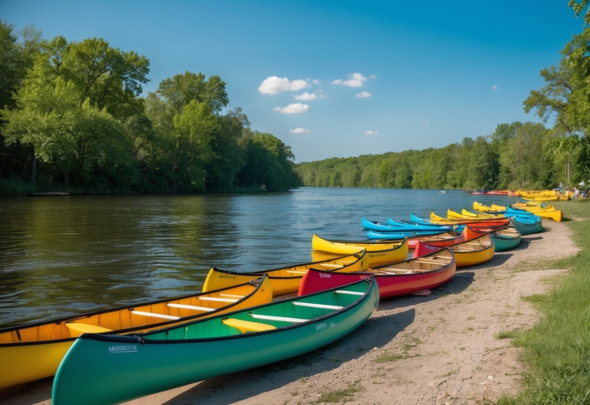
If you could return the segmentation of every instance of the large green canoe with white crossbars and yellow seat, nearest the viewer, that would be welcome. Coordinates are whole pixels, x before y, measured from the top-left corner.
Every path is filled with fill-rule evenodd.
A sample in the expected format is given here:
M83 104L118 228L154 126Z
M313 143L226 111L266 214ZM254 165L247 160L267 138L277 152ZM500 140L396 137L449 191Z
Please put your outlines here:
M55 374L53 404L121 403L296 357L345 337L378 303L369 276L160 331L84 334Z

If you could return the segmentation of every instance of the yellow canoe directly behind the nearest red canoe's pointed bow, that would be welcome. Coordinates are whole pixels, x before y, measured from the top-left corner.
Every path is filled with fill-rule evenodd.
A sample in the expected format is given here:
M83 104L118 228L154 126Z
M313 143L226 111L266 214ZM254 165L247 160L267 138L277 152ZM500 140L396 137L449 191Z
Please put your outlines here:
M273 295L280 296L294 294L299 289L301 278L310 268L322 270L339 270L342 272L358 272L369 267L369 258L366 250L361 249L353 254L334 257L330 255L322 260L309 263L293 264L292 266L279 267L277 269L256 270L254 272L233 272L212 267L203 283L203 291L216 290L248 280L257 279L267 274L273 285Z

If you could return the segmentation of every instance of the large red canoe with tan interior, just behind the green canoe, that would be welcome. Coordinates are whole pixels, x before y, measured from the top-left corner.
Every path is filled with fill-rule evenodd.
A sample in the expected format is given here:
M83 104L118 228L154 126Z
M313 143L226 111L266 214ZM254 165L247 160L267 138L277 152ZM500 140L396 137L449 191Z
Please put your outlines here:
M455 270L457 270L455 257L448 249L428 256L376 267L369 272L336 273L310 269L301 280L298 295L334 288L373 274L379 286L381 299L392 298L437 288L453 279Z

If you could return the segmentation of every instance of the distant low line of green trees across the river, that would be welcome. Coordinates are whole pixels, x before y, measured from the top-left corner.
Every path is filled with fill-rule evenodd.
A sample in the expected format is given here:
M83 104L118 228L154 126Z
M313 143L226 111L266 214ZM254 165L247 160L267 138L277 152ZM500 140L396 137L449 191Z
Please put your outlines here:
M297 164L303 184L316 187L552 188L581 181L579 149L563 149L564 136L540 123L498 125L477 139L440 149L333 158ZM572 161L569 174L566 161Z

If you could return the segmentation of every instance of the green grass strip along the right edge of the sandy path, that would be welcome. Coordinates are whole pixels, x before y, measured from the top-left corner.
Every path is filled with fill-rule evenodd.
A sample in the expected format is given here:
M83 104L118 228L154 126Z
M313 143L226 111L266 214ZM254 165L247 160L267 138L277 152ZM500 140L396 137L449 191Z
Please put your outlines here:
M514 335L513 344L523 348L523 386L500 397L499 405L590 403L590 203L568 201L558 208L566 218L585 218L567 223L581 252L558 262L572 269L563 283L526 298L542 317Z

